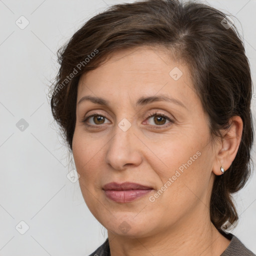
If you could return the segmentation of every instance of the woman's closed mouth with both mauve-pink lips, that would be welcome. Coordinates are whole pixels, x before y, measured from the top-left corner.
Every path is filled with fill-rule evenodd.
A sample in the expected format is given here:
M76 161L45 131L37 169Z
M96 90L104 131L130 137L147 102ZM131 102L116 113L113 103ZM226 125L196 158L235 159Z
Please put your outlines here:
M103 186L106 197L115 202L130 202L153 190L150 186L145 186L138 183L111 182Z

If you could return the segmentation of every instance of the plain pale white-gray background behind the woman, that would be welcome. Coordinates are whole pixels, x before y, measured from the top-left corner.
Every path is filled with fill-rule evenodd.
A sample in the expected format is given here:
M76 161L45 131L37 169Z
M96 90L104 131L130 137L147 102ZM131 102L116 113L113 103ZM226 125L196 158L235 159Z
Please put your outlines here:
M46 94L58 68L56 50L89 17L120 2L124 1L0 0L1 256L88 255L106 238L105 229L83 201L78 181L72 183L66 177L72 166L52 124ZM239 20L235 24L243 31L255 81L256 0L208 3ZM15 24L21 15L29 21L24 29ZM253 119L255 106L256 94L252 100ZM28 123L23 131L16 127L21 118ZM255 163L255 146L252 154ZM255 184L253 174L247 186L234 196L240 220L232 231L254 253ZM21 220L29 226L24 234L15 228L20 224L25 228Z

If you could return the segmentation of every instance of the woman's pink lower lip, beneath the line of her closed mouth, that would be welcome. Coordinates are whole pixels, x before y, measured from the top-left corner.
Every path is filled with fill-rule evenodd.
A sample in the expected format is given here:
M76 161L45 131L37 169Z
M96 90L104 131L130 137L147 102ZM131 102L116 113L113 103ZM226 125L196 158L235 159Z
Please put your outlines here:
M115 202L130 202L150 191L152 189L104 190L106 197Z

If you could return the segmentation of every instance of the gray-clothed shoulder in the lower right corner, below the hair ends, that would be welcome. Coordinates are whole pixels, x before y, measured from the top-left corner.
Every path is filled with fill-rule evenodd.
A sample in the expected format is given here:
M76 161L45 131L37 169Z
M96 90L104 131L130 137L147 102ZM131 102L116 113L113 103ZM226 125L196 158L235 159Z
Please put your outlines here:
M220 256L256 256L235 235L229 233L231 241Z

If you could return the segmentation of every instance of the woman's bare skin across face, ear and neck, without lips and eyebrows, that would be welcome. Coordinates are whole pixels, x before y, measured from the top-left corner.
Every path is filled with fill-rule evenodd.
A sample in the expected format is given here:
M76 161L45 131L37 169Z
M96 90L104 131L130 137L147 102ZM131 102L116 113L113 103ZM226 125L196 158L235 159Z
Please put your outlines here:
M177 80L169 75L174 67L182 71ZM142 96L160 94L183 106L168 101L135 104ZM86 95L102 97L109 105L89 100L78 104ZM154 111L157 114L149 117ZM86 119L95 113L105 118ZM172 121L164 117L154 120L162 114ZM123 118L131 124L126 131L118 126ZM242 120L233 116L230 123L230 128L222 131L222 139L211 141L208 118L188 67L162 48L118 50L81 76L73 157L83 198L107 229L112 256L219 256L225 250L230 241L211 223L209 200L214 176L221 174L221 165L228 169L240 143ZM196 152L200 155L150 201L149 196L166 186L168 178ZM136 182L153 190L119 203L108 199L102 190L112 181ZM120 225L126 225L128 231L122 231Z

